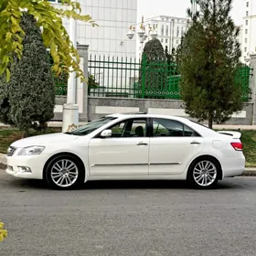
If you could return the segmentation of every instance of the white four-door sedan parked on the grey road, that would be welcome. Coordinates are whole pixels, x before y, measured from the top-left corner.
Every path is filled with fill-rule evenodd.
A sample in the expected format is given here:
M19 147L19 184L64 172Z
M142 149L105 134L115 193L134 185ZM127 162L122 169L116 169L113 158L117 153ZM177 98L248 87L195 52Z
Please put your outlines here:
M104 116L70 133L16 141L6 172L68 189L89 180L187 180L214 187L245 167L240 133L215 132L176 116Z

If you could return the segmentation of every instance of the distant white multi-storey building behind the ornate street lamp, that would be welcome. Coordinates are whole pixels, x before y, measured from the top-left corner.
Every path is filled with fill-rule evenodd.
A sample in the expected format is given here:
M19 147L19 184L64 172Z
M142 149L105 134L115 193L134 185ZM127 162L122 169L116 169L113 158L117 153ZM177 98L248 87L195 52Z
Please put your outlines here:
M187 31L188 18L176 17L176 16L155 16L148 18L144 21L146 29L148 27L156 27L157 38L161 41L163 47L167 47L169 51L172 48L176 48L180 44L181 37ZM142 44L141 40L137 40L137 57L141 59L142 51L145 42L150 40L151 37L147 37Z

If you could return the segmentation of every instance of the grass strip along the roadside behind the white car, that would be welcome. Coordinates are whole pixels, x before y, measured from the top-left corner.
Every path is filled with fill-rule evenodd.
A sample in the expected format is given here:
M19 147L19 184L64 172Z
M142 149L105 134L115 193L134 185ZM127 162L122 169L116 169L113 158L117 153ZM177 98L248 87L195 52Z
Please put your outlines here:
M48 128L46 133L59 133L61 128ZM243 153L246 157L247 167L256 167L256 130L240 131ZM42 133L30 132L29 136ZM10 144L22 138L22 133L16 129L0 130L0 153L6 154Z

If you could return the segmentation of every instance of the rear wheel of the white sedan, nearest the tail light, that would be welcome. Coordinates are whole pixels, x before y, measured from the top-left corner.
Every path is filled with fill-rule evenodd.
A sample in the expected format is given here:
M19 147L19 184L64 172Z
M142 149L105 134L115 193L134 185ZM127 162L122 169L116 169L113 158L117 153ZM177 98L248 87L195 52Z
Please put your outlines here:
M199 172L199 166L206 167L209 165L208 170ZM202 168L203 169L203 168ZM188 168L187 181L189 185L199 189L209 189L217 186L221 167L219 162L212 157L204 156L194 161ZM203 177L202 177L203 176ZM202 179L201 179L202 178ZM200 180L201 179L201 180ZM205 182L207 180L207 182ZM203 183L203 184L200 184Z

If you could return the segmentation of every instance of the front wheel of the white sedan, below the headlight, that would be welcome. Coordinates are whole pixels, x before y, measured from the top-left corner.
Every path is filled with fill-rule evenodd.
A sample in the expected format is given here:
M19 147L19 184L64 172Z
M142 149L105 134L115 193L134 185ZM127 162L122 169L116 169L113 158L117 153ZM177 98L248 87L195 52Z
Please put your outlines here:
M64 170L66 168L62 168L63 171L67 172L65 174L60 171L59 167L58 167L59 170L56 168L57 166L61 167L62 165L69 166L69 171L68 171L68 168L67 170ZM63 179L63 176L64 176L64 179ZM68 189L77 188L84 183L84 177L85 177L85 169L83 164L77 157L74 157L72 155L67 155L67 154L57 155L48 162L48 165L46 167L45 179L48 183L48 186L54 189L68 190ZM63 179L62 186L60 184L58 185L59 178ZM69 182L69 180L71 182ZM60 182L61 180L59 181L59 183Z

